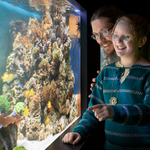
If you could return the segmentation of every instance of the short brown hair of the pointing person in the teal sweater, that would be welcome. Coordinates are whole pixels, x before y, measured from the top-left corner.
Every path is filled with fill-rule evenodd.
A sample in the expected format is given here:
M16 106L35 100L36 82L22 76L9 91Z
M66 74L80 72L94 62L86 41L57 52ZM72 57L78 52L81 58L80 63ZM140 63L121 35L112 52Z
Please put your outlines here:
M115 30L116 25L121 20L129 21L131 28L134 31L135 36L137 37L138 40L144 36L147 36L149 31L150 31L150 24L149 24L149 21L147 19L143 18L140 15L129 14L129 15L125 15L123 17L120 17L116 21L116 24L114 25L112 32Z

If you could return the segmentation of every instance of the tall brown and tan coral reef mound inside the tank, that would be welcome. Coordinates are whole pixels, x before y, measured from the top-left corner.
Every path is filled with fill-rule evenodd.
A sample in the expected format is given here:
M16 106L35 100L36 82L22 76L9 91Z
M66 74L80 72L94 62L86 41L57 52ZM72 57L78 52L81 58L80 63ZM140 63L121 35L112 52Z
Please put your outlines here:
M11 22L13 51L7 57L2 77L5 83L0 111L16 110L24 115L18 126L19 140L44 140L63 131L79 115L70 65L72 40L64 17L72 8L64 0L61 2L43 0L46 12L40 21L29 18L28 25ZM30 6L41 9L35 0L30 0ZM7 100L1 103L4 97Z

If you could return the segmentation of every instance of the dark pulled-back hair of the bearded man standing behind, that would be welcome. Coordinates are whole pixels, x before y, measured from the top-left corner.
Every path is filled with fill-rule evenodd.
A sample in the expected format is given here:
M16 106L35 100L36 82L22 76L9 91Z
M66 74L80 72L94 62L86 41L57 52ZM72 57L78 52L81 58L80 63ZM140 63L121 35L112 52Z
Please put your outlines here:
M100 19L102 17L106 17L109 19L110 23L116 23L116 20L125 15L125 13L117 8L114 5L106 5L103 7L100 7L97 11L94 12L92 18L91 18L91 22L96 20L96 19Z

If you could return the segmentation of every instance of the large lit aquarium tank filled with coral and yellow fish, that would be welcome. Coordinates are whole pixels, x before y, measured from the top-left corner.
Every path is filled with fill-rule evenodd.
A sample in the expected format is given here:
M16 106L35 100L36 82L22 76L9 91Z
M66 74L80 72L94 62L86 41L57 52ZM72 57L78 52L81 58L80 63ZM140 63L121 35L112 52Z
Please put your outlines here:
M17 122L14 149L44 150L81 115L80 10L0 0L0 62L0 133Z

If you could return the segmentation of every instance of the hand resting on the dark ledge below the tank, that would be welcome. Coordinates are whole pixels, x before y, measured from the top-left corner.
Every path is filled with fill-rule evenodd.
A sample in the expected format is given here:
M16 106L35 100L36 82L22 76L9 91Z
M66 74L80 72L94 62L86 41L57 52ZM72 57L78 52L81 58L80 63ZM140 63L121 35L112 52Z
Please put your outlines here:
M81 135L77 132L69 132L62 139L62 142L70 143L73 145L79 143L80 141L81 141Z

